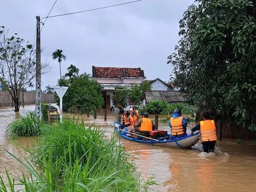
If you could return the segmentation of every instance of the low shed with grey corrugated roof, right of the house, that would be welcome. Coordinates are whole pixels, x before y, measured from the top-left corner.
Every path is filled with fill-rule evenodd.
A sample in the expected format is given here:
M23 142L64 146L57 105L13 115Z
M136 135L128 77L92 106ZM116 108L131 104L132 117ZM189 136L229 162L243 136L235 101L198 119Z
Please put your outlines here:
M186 99L179 91L147 91L143 93L141 101L142 106L145 107L150 101L177 103L186 102Z

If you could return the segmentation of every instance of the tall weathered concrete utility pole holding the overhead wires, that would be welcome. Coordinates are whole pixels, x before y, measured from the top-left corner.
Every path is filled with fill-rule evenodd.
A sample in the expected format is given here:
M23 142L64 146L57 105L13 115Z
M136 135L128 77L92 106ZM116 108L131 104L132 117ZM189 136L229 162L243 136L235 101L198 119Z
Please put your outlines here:
M42 119L41 108L41 39L40 39L40 17L36 16L36 117Z

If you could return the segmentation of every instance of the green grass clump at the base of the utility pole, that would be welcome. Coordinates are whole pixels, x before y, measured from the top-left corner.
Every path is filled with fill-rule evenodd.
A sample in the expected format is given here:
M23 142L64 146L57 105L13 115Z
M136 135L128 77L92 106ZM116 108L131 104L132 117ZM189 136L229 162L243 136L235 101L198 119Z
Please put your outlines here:
M10 123L5 130L5 137L15 139L17 137L33 137L41 133L44 122L36 122L36 114L29 111L25 116L20 116L19 119Z

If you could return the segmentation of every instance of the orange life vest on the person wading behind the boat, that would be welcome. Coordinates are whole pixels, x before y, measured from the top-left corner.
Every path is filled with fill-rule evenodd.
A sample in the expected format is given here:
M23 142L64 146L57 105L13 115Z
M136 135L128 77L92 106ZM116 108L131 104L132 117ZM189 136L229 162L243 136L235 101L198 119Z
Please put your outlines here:
M201 140L204 141L216 141L216 127L213 120L205 120L200 122Z

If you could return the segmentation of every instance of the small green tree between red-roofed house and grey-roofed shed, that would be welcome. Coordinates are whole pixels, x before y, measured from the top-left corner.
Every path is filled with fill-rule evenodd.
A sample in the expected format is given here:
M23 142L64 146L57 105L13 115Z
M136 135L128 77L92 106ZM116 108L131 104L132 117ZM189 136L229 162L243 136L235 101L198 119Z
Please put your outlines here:
M141 101L141 96L145 91L151 91L150 83L143 81L141 84L132 84L129 90L129 100L132 104L138 105Z

